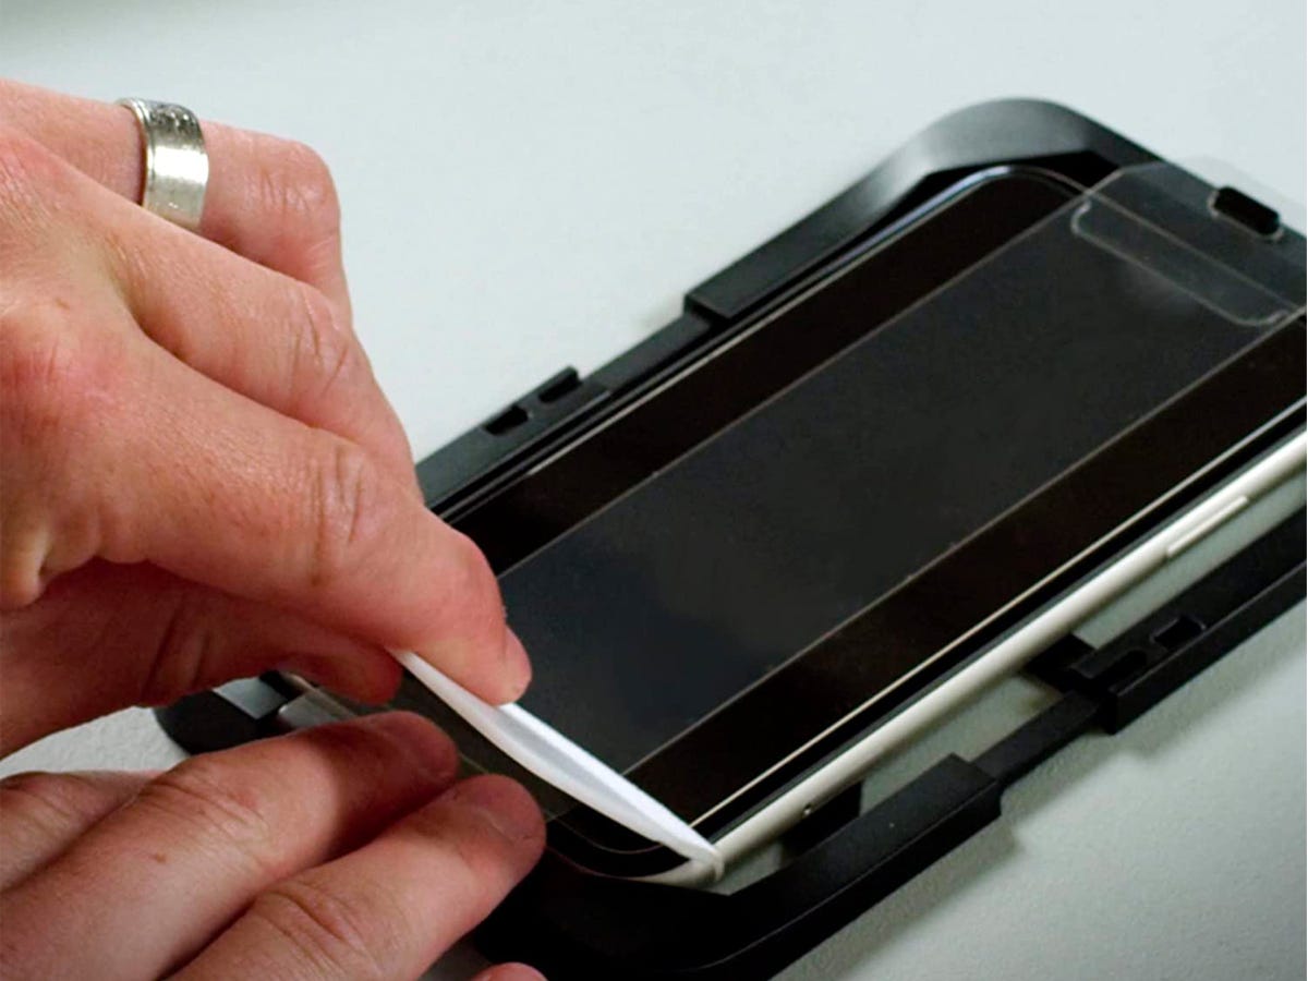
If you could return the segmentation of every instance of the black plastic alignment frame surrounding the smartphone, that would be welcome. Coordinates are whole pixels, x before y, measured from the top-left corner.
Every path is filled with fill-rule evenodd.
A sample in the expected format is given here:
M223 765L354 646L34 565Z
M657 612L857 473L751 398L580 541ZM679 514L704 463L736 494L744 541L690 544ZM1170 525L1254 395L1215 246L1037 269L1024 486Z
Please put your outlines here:
M564 369L420 462L425 500L459 523L561 446L729 341L761 309L969 174L1033 166L1092 186L1156 160L1048 102L990 102L947 116L692 289L683 315L641 344L586 378ZM1214 207L1222 211L1227 199ZM1236 208L1230 217L1239 221L1245 212ZM1266 234L1270 218L1256 217L1258 234ZM490 957L527 960L556 977L770 976L993 821L1003 790L1046 756L1096 725L1117 731L1295 603L1304 593L1303 521L1300 513L1278 526L1107 647L1057 645L1033 668L1065 691L1053 708L974 761L946 757L862 816L848 793L836 798L791 836L799 854L766 879L723 896L598 876L552 849L477 933L479 946ZM1171 636L1167 627L1179 617L1199 629L1186 627L1169 645L1151 640L1160 629ZM280 731L277 708L297 695L276 675L255 688L229 685L157 714L192 752L234 746Z

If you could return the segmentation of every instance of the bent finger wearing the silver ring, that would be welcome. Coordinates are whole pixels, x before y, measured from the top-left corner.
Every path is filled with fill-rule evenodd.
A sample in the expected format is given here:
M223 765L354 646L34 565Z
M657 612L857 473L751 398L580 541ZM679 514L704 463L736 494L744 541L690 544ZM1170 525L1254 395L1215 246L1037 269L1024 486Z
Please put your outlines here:
M131 110L0 78L0 122L140 200L141 136ZM340 203L322 158L290 140L211 122L201 128L209 183L200 234L317 286L348 310Z

